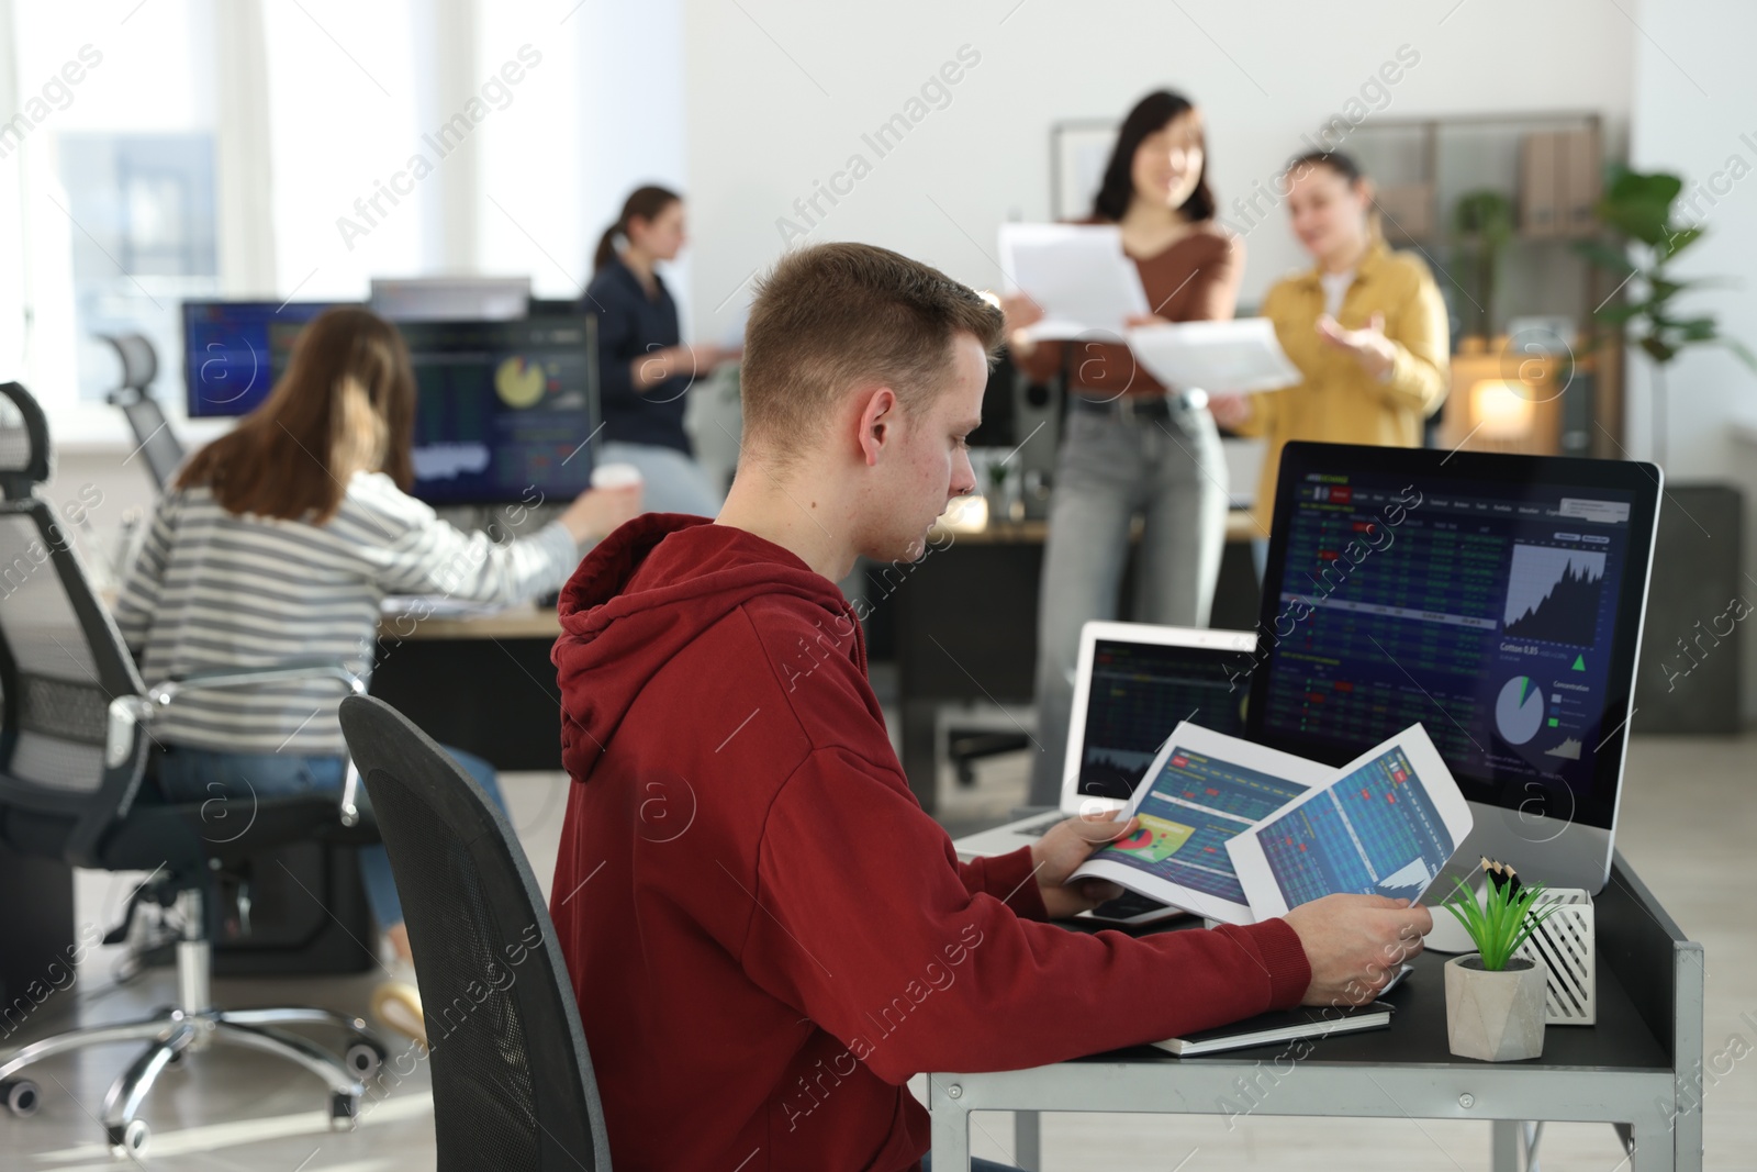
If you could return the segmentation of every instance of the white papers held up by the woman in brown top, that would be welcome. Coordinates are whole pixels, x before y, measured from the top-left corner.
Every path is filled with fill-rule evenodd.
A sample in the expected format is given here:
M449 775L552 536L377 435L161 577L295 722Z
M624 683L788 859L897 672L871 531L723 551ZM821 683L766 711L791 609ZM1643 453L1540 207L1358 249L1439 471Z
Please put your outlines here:
M1116 225L1003 223L1000 267L1007 292L1023 292L1044 309L1026 334L1066 339L1109 334L1123 339L1132 316L1149 313L1140 271L1123 253Z

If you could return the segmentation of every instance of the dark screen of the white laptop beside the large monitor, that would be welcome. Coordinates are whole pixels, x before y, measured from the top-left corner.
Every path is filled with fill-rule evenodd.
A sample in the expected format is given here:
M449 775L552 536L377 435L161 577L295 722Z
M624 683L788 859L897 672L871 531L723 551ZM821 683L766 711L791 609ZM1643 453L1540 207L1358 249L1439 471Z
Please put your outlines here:
M1081 796L1126 801L1179 720L1244 734L1247 680L1235 676L1235 647L1128 638L1124 624L1102 629L1119 638L1093 640L1091 684L1074 712ZM1249 634L1240 638L1249 645Z

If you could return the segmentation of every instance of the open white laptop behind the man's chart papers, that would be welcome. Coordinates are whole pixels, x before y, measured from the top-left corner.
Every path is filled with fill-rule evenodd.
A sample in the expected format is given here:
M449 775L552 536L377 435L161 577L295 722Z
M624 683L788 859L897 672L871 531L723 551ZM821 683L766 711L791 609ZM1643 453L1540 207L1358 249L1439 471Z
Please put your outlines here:
M1242 736L1254 655L1253 631L1088 622L1074 676L1061 805L956 840L958 857L1009 854L1068 817L1121 810L1179 720ZM1124 894L1093 915L1133 924L1174 914L1156 900Z

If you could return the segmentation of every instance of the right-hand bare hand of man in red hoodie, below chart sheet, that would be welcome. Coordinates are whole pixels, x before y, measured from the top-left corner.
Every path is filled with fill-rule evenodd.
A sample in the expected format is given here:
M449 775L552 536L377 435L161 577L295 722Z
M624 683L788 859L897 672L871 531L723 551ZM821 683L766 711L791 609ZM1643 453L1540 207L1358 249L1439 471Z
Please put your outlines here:
M1047 838L1047 835L1045 835ZM1421 952L1434 915L1409 900L1334 894L1302 903L1284 917L1312 966L1302 1005L1363 1005Z

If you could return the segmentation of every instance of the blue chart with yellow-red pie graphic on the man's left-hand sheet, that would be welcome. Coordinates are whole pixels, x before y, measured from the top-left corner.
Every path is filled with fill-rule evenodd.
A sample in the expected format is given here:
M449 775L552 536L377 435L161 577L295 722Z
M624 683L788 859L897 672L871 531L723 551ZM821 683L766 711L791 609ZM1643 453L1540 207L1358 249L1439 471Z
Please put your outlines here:
M1226 840L1304 792L1279 777L1172 749L1137 810L1142 833L1093 857L1246 903Z

